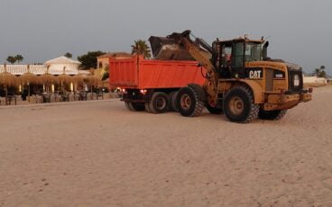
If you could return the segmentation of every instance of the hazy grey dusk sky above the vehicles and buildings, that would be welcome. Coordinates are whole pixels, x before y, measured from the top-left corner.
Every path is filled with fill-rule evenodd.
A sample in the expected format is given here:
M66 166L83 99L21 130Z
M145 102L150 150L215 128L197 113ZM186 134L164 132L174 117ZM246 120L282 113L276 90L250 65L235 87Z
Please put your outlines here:
M0 62L130 52L134 40L189 29L209 43L264 36L269 57L332 75L331 11L330 0L0 0Z

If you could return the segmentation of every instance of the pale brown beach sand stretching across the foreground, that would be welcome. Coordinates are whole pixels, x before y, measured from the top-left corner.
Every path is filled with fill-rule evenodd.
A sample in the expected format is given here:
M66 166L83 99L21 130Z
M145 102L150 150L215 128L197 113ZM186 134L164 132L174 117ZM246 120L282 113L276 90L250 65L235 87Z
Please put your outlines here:
M281 121L0 108L0 206L332 206L332 87Z

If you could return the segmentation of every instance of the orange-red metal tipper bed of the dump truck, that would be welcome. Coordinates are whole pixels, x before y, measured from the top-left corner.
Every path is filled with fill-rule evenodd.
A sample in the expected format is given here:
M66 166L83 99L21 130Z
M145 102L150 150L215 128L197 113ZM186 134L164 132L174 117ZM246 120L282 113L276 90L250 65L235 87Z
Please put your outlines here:
M109 84L111 87L132 89L180 88L190 83L203 85L205 71L197 61L110 58Z

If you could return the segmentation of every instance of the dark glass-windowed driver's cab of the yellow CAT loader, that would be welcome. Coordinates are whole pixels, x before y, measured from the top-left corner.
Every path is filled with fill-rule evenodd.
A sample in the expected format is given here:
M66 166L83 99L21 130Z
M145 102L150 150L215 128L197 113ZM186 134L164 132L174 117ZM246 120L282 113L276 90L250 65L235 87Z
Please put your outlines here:
M218 66L222 78L244 77L244 64L249 61L262 61L266 57L268 44L263 40L235 40L217 41Z

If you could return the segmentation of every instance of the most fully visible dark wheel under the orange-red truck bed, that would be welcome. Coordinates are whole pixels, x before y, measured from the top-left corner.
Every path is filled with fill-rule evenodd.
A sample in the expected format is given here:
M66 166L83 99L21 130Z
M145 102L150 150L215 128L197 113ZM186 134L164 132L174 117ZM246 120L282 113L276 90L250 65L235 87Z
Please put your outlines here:
M162 92L152 94L149 108L153 113L162 113L169 111L169 97Z

